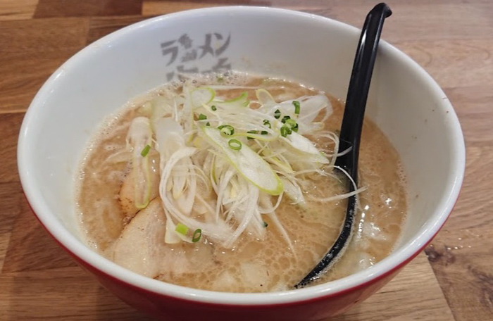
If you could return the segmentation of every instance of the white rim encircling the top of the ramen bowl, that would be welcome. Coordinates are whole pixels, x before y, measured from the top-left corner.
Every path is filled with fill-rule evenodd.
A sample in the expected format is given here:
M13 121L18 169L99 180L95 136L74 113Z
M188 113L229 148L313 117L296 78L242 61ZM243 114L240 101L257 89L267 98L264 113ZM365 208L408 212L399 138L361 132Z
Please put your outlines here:
M29 154L30 149L29 137L31 124L36 121L37 114L40 113L40 109L42 109L40 107L43 105L44 96L49 94L51 84L56 80L56 78L58 78L59 75L61 75L61 73L63 73L64 66L77 64L77 61L79 61L80 58L89 53L91 47L98 46L99 44L116 42L118 39L125 37L125 34L132 32L132 30L146 28L156 23L161 23L165 20L190 18L198 14L216 13L218 11L223 13L240 12L242 14L270 13L290 16L291 18L309 18L327 23L327 25L337 25L338 27L351 30L351 32L354 32L355 30L358 31L358 28L356 27L352 27L331 18L300 11L292 11L289 9L261 6L220 6L213 8L196 8L143 20L139 23L123 27L116 32L102 37L96 42L89 44L89 46L86 46L84 49L78 51L74 56L69 58L68 61L63 63L63 65L61 65L61 67L58 68L48 80L46 80L42 88L39 89L39 92L37 92L35 98L32 100L32 103L25 114L23 124L21 125L18 139L18 170L20 182L23 186L27 201L30 203L32 211L37 216L39 222L46 229L46 231L49 232L49 234L51 234L51 236L54 237L54 239L56 239L56 241L63 248L65 248L66 251L104 275L109 275L110 277L118 279L120 282L130 284L133 287L144 289L145 291L150 291L155 294L172 296L174 298L185 299L188 301L198 301L201 303L216 303L227 306L272 306L300 303L327 296L337 296L348 291L354 291L358 288L365 287L367 284L377 282L377 280L386 277L392 272L397 272L401 267L406 265L406 263L408 263L412 258L417 256L420 251L423 250L432 238L435 237L439 229L444 225L444 222L449 217L456 199L458 198L458 193L463 182L465 168L465 146L461 126L458 122L456 113L447 99L447 96L444 94L437 82L435 82L435 80L433 80L432 77L428 75L428 73L421 68L420 65L418 65L418 63L384 40L380 42L382 50L385 50L387 53L398 58L401 63L408 65L414 73L419 75L423 82L427 83L428 87L430 87L430 89L432 89L437 96L445 98L441 99L441 105L439 108L444 108L444 110L449 112L451 134L454 136L452 138L455 144L453 146L453 153L456 157L451 160L451 172L454 174L451 175L452 183L451 186L449 186L449 189L447 189L447 193L444 193L444 195L447 194L448 199L447 201L443 201L439 204L439 210L432 215L433 220L430 220L430 222L420 228L420 234L418 234L415 239L402 245L398 251L394 251L387 258L384 258L379 263L373 265L373 267L332 282L289 291L239 294L192 289L144 277L116 265L116 263L102 257L87 247L82 241L77 239L77 237L68 232L68 230L63 227L61 222L58 222L54 211L52 211L44 201L42 194L39 192L39 187L36 186L35 180L33 180L33 177L30 174L30 168L32 168L34 163L27 157L27 155Z

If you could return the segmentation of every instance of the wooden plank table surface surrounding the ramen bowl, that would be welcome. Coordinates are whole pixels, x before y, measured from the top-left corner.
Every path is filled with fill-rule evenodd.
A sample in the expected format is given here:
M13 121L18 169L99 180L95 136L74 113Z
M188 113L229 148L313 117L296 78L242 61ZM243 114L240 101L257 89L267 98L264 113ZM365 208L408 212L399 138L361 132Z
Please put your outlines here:
M0 319L148 320L80 269L44 232L20 187L16 146L44 80L99 37L205 6L292 8L361 27L369 0L0 0ZM454 213L424 253L333 320L493 320L493 1L388 0L382 37L435 77L456 108L467 168Z

